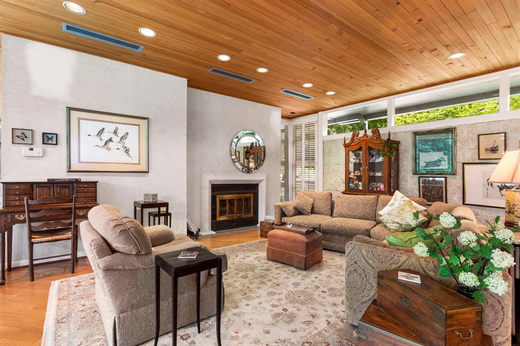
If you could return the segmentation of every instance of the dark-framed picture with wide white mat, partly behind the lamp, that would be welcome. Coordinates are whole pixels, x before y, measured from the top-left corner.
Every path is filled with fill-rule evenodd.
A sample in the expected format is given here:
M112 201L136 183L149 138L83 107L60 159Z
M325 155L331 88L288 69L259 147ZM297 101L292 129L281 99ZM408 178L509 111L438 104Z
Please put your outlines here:
M505 190L514 184L488 182L496 163L472 162L462 164L462 203L482 207L505 207Z

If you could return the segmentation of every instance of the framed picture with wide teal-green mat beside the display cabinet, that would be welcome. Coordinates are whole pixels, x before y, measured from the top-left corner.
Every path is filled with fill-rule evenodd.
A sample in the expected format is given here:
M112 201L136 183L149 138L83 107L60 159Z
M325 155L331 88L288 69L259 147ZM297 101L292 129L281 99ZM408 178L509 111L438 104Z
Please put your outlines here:
M456 174L455 128L413 132L413 174Z

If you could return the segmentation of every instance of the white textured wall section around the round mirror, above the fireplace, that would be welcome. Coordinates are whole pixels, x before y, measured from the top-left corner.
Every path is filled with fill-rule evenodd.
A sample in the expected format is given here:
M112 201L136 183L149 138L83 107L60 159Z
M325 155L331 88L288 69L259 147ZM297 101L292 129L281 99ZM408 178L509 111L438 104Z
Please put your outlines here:
M203 173L246 174L235 168L229 149L242 130L255 131L264 140L266 159L257 173L267 175L266 215L273 214L280 201L281 109L188 88L187 124L188 217L194 224L201 227Z

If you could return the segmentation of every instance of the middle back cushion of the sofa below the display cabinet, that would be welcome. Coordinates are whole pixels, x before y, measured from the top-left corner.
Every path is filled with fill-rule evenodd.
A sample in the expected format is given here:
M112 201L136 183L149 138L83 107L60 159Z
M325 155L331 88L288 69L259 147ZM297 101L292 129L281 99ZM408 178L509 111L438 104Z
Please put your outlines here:
M333 216L375 221L378 199L378 196L338 195L334 202Z

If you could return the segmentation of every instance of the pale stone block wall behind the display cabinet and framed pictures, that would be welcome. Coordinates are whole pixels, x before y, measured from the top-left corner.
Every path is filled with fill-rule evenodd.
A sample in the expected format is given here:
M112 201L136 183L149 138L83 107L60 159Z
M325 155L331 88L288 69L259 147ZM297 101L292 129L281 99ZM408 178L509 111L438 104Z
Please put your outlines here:
M492 115L490 115L492 116ZM448 177L448 203L462 204L462 163L463 162L498 162L498 160L479 160L477 135L492 132L506 132L507 149L516 149L520 142L520 119L496 121L457 128L457 175ZM399 191L406 196L419 195L420 175L413 172L412 131L393 132L392 139L399 145ZM386 134L381 134L386 138ZM347 138L348 141L348 138ZM425 176L425 175L424 175ZM323 190L341 193L345 189L345 151L343 139L323 141ZM494 216L504 216L504 209L470 206L480 222L491 220Z

